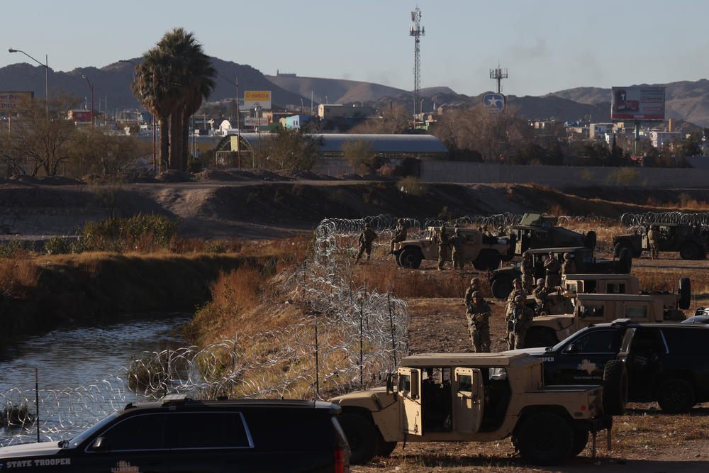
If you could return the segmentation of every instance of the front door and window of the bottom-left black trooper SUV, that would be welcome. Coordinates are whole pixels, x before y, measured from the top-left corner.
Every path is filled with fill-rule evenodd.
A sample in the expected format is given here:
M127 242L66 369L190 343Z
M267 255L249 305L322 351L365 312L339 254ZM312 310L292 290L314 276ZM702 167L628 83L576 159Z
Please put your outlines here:
M77 471L172 471L166 423L166 413L140 413L113 423L89 441Z

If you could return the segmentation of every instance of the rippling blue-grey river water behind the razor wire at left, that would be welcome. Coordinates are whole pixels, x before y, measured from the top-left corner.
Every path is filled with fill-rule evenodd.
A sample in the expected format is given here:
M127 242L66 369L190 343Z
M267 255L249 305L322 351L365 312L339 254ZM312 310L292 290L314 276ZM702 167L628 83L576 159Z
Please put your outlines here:
M87 404L99 398L101 402L111 401L112 396L116 398L116 408L122 407L126 401L143 400L142 396L125 390L125 384L118 377L124 377L125 367L142 357L144 352L160 352L182 346L179 329L190 318L189 314L184 313L123 316L111 325L52 330L26 336L2 347L0 413L7 408L7 402L16 403L17 399L27 399L30 410L35 408L36 368L41 398L40 416L45 422L51 421L49 427L54 430L40 438L57 440L78 433L76 430L83 430L86 425L72 428L74 421L60 418L65 416L61 412L66 412L67 408L72 411L77 408L83 408L86 412L95 411L93 406ZM91 386L98 387L94 389ZM77 403L79 406L72 406ZM92 415L95 414L89 414ZM52 416L57 416L57 419ZM0 424L0 445L35 441L34 428L35 425L9 429ZM63 435L61 430L65 430Z

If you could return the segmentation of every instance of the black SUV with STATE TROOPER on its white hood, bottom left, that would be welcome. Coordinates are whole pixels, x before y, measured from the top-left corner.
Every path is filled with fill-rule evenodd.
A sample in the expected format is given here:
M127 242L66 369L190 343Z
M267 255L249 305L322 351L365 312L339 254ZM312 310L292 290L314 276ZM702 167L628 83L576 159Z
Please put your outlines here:
M0 469L349 472L340 406L240 399L128 404L72 440L0 448Z

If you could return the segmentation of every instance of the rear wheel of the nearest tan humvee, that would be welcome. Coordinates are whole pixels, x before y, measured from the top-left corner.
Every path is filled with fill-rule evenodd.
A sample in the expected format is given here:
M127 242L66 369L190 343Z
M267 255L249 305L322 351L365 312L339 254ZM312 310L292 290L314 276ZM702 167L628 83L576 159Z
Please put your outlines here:
M537 412L525 418L515 436L516 447L525 462L551 465L569 457L574 432L557 414Z

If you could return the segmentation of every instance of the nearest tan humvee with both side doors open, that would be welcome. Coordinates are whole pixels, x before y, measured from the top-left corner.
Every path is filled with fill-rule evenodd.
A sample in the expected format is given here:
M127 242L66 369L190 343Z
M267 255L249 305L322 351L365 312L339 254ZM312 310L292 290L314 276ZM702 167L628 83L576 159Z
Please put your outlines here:
M510 437L527 462L557 464L608 429L601 386L545 386L542 360L500 353L422 353L403 358L386 387L330 399L353 463L403 442L489 442ZM623 408L625 406L623 405ZM610 445L610 437L608 438Z

